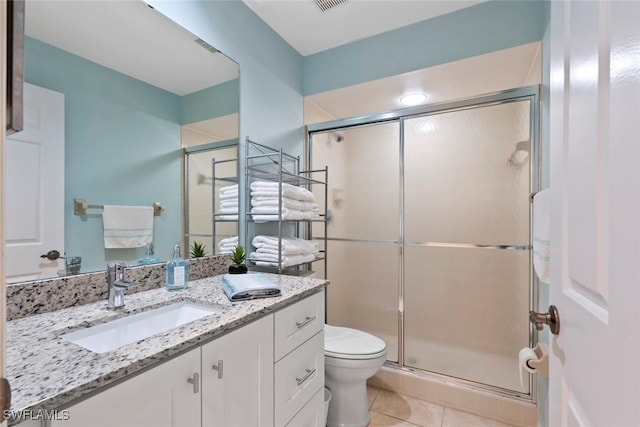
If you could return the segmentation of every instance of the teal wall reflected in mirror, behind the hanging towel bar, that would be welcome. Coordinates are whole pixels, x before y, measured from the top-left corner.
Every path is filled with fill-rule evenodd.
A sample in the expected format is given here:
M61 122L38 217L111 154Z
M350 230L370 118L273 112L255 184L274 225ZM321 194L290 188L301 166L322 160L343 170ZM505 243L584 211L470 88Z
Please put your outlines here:
M73 215L90 204L151 205L156 252L181 238L180 97L34 39L25 43L25 80L65 95L65 250L83 271L135 260L144 248L104 248L102 216Z

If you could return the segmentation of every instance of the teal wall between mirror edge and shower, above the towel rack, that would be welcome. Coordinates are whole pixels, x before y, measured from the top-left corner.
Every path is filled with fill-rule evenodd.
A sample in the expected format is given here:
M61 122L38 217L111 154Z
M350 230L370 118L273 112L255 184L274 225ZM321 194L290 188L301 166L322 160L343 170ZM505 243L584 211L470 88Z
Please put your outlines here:
M302 56L297 51L241 1L148 3L240 65L240 153L245 153L245 137L251 137L302 154ZM238 163L243 170L242 155ZM240 218L244 214L240 206ZM239 230L242 242L243 224Z

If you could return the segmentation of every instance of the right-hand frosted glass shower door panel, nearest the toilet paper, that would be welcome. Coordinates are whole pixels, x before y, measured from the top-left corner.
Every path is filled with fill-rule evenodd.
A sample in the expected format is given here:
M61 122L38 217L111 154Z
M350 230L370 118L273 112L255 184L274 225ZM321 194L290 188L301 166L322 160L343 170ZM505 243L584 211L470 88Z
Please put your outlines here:
M404 120L404 360L528 393L530 101Z

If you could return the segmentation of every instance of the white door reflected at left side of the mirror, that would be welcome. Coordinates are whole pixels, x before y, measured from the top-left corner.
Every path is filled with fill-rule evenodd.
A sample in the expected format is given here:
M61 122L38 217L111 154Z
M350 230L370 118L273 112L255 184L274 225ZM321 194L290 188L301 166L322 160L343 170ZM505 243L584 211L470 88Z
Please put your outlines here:
M5 144L7 282L54 277L64 260L64 95L24 85L24 130Z

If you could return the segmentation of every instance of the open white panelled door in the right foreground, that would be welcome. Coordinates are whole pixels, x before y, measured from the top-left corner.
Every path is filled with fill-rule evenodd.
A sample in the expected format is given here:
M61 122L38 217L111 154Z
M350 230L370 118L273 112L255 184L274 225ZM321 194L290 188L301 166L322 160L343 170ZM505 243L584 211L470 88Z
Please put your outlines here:
M640 2L551 8L549 426L639 426Z

